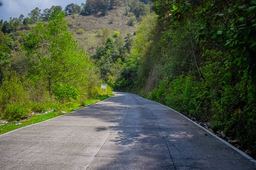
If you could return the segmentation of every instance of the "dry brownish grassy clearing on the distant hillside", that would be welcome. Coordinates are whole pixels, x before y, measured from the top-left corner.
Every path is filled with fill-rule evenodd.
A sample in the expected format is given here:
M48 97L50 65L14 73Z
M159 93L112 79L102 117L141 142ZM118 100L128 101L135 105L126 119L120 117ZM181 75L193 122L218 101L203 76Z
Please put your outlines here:
M83 48L88 55L92 55L95 54L97 46L101 43L101 37L97 36L96 30L109 28L111 34L113 34L113 31L119 31L122 37L125 37L128 33L134 33L138 23L134 26L128 26L129 17L124 13L125 7L122 6L108 11L108 14L104 17L100 14L90 16L76 14L67 16L66 21L69 31L75 33L73 38L78 40L79 48ZM84 34L77 34L77 30L80 28L84 30Z

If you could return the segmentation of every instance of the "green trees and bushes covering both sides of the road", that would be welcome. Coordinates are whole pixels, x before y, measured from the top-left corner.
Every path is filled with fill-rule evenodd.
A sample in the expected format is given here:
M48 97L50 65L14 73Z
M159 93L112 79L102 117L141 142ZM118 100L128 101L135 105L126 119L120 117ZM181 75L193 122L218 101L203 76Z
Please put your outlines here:
M86 30L70 31L65 17L106 17L116 7L136 31L97 29L101 41L87 55L73 38ZM87 0L35 8L0 30L3 119L83 106L103 95L104 82L110 94L138 94L207 122L256 156L256 0Z

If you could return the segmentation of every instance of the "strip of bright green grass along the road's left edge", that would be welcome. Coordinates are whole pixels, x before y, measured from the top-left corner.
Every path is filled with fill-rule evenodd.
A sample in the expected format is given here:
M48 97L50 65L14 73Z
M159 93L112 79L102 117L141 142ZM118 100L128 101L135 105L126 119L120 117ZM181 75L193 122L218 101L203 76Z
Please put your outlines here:
M104 99L107 99L111 96L113 96L113 95L99 96L96 99L86 100L84 103L85 103L85 105L95 104L95 103L100 102ZM76 107L71 108L70 111L67 112L67 113L70 113L70 112L74 111L79 106L78 102L76 103L75 106ZM50 112L50 113L41 114L41 115L33 115L33 116L31 116L31 117L29 117L28 119L25 119L25 120L12 121L11 122L12 125L9 125L9 124L6 123L6 124L0 126L0 134L7 133L9 131L12 131L12 130L15 130L15 129L18 129L20 127L24 127L24 126L27 126L27 125L32 125L32 124L35 124L35 123L44 122L48 119L52 119L52 118L55 118L55 117L58 117L58 116L61 116L61 115L67 114L67 113ZM15 125L17 123L22 123L22 125L20 125L20 126Z

